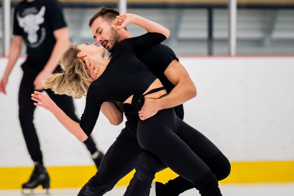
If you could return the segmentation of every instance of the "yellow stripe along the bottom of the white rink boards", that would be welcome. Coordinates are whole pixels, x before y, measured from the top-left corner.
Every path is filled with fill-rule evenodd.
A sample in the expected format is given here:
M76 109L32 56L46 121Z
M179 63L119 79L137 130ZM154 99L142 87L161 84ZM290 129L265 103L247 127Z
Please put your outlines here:
M294 182L294 161L233 162L228 178L220 183ZM0 189L19 189L33 168L0 168ZM50 166L51 188L82 187L95 173L95 166ZM133 170L116 185L128 185ZM166 183L178 175L169 168L156 174L154 181Z

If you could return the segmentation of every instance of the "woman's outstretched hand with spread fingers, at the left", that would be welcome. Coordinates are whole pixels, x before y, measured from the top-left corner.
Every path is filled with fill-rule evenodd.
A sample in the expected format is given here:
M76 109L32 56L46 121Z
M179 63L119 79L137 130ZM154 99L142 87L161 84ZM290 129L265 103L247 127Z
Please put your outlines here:
M42 107L50 112L58 107L54 101L52 101L52 99L44 93L34 91L34 94L31 94L31 96L31 99L40 103L34 103L35 106Z

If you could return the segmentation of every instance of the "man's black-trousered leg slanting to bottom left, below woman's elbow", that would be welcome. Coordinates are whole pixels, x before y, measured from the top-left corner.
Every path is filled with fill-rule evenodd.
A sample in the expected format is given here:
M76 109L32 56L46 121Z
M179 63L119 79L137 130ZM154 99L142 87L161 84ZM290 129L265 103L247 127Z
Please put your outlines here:
M143 149L135 137L123 129L106 152L97 173L82 187L79 196L99 196L110 191L125 175L131 172Z

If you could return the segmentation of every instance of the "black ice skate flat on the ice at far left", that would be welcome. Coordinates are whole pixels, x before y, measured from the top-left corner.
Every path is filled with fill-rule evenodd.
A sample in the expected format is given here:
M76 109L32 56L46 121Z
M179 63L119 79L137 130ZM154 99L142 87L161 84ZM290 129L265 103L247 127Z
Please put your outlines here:
M29 181L22 185L21 193L23 195L31 195L33 190L39 185L46 189L46 193L49 194L50 179L47 170L44 165L36 163Z

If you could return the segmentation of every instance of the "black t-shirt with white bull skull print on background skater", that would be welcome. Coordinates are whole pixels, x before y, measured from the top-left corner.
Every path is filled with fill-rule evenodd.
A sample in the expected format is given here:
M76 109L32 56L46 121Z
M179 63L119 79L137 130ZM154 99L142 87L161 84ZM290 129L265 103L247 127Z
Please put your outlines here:
M24 38L28 59L46 61L55 45L53 31L66 27L56 0L21 1L14 10L13 34Z

